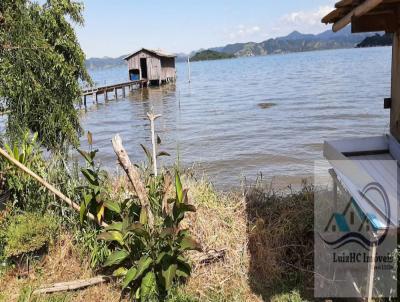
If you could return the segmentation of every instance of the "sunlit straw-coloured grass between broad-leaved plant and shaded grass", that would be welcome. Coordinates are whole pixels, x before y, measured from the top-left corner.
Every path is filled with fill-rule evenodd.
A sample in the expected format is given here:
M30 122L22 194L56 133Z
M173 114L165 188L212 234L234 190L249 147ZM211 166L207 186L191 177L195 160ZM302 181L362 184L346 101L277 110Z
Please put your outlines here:
M246 208L240 194L217 194L204 179L185 179L197 208L185 220L205 250L226 249L223 262L195 267L183 291L199 301L262 301L248 282Z

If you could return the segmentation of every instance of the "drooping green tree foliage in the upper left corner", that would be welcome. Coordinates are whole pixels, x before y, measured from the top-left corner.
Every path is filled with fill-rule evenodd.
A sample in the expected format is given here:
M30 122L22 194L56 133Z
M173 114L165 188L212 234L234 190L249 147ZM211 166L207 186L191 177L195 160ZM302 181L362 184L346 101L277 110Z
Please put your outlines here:
M74 104L90 77L71 23L83 24L82 10L72 0L0 1L0 100L10 137L29 129L51 150L78 144Z

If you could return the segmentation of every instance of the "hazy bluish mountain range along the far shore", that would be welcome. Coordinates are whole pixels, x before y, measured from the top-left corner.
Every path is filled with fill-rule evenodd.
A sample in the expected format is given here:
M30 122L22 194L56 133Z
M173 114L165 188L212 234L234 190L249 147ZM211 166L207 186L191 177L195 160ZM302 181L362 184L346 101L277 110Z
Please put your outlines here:
M320 34L314 35L302 34L298 31L294 31L285 37L268 39L260 43L235 43L222 47L210 48L209 50L234 55L235 57L249 57L312 50L353 48L361 43L365 38L373 35L374 33L352 34L351 29L348 26L338 33L327 30ZM205 49L193 51L191 54L178 54L177 61L186 61L188 56L193 56L195 53L204 50ZM86 60L86 66L89 69L94 69L125 65L126 63L123 60L125 56L126 55L123 55L118 58L90 58Z

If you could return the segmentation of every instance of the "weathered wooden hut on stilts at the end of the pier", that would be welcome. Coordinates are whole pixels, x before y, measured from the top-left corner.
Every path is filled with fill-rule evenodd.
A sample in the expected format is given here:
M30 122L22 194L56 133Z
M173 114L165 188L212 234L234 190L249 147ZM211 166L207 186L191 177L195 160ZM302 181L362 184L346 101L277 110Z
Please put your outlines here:
M143 80L161 85L176 80L176 55L162 50L142 48L125 58L128 62L129 80Z

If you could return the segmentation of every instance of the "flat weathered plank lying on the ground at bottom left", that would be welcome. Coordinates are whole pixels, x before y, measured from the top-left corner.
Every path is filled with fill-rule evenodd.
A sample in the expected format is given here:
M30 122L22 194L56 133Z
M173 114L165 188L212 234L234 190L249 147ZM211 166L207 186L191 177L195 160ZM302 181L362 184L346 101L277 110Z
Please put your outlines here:
M86 288L88 286L107 282L109 280L110 280L110 277L97 276L94 278L84 279L84 280L53 283L53 284L43 285L43 286L39 287L32 294L40 295L40 294L50 294L50 293L61 292L61 291L77 290L77 289L81 289L81 288Z

